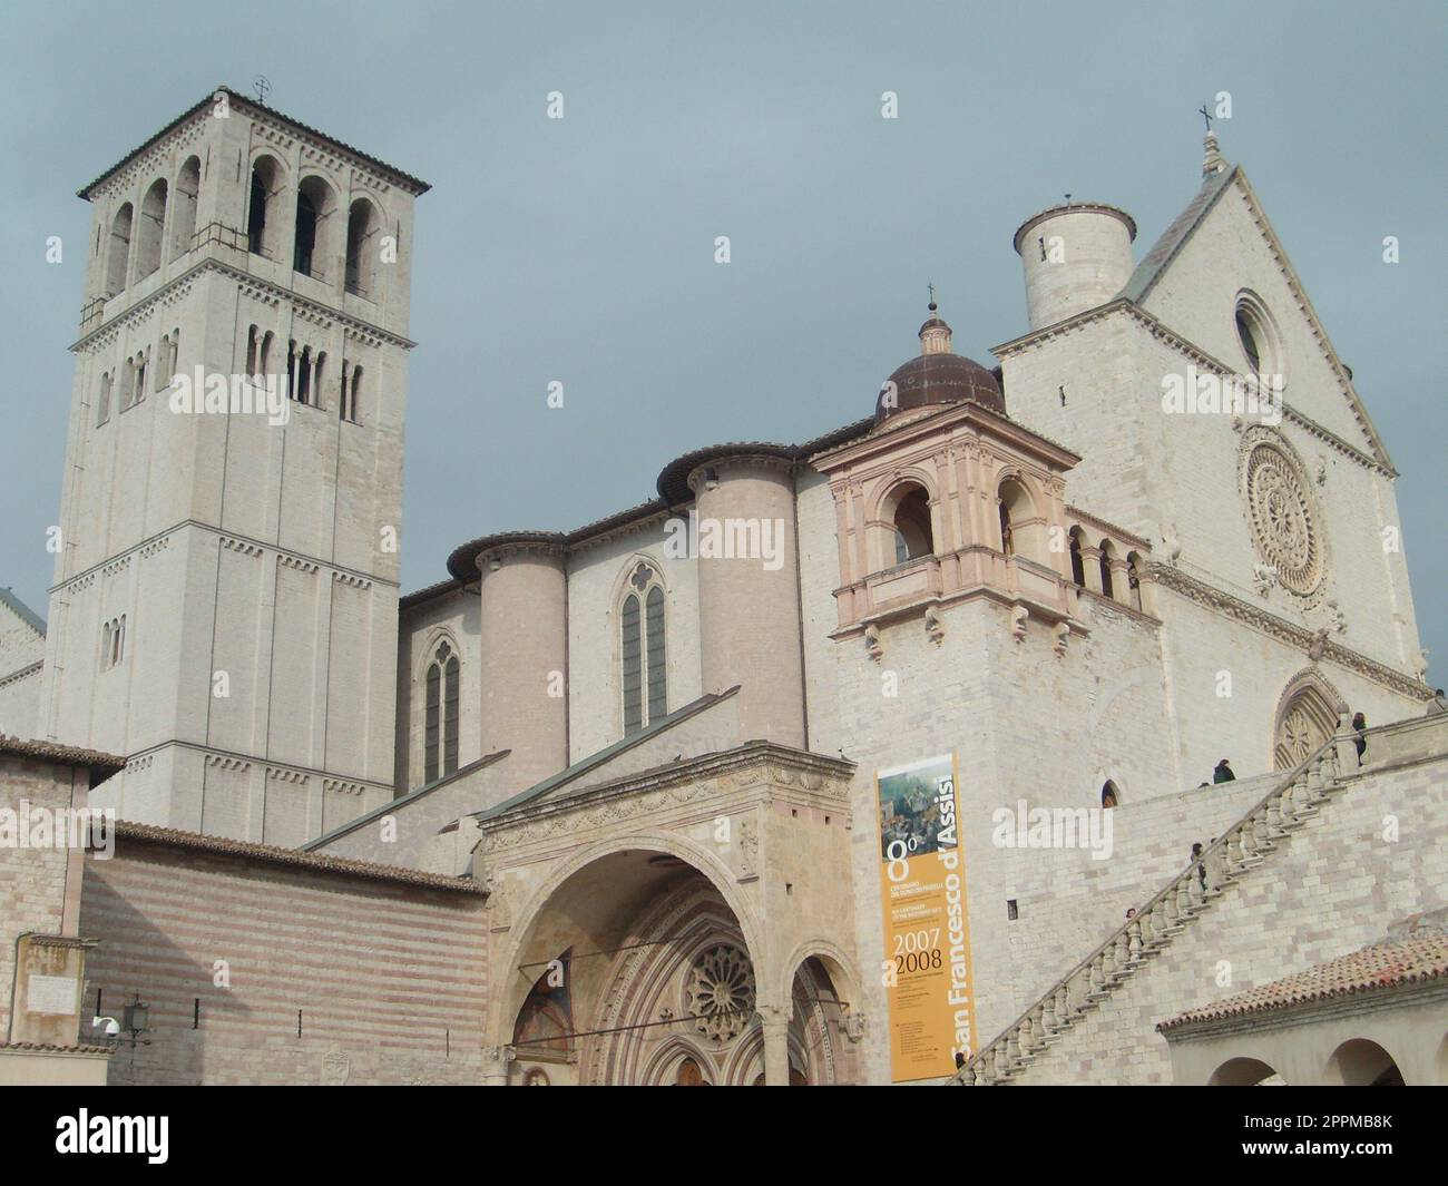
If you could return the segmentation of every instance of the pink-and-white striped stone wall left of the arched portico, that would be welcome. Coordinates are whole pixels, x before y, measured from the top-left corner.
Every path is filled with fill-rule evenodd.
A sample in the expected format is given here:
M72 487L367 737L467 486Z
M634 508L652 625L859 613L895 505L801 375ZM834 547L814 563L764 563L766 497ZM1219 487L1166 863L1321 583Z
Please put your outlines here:
M478 1082L472 882L122 825L87 859L81 933L87 1008L151 1006L111 1083Z

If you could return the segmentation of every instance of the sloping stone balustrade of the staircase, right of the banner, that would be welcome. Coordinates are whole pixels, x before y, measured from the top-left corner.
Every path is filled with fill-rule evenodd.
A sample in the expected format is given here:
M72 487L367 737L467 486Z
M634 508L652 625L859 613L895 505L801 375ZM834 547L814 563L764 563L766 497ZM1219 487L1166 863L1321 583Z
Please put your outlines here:
M1392 727L1365 734L1370 757L1373 749L1380 747L1374 746L1374 737L1389 730ZM1384 736L1381 740L1389 739ZM1344 718L1342 727L1326 744L1276 781L1255 807L985 1046L954 1074L951 1083L1011 1083L1129 980L1137 969L1161 954L1193 920L1212 908L1228 886L1250 875L1283 838L1313 820L1319 805L1345 786L1342 773L1355 773L1357 769L1354 734Z

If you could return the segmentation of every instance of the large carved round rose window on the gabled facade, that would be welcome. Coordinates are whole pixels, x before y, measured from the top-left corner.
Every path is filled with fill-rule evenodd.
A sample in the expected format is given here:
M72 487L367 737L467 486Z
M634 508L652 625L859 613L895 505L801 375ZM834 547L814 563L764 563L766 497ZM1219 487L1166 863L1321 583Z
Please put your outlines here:
M1242 439L1242 498L1253 544L1277 585L1296 598L1316 601L1326 575L1326 542L1312 487L1292 447L1270 429ZM1260 566L1261 568L1261 566ZM1258 591L1270 584L1255 579Z

